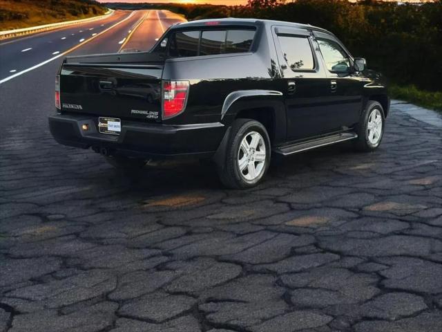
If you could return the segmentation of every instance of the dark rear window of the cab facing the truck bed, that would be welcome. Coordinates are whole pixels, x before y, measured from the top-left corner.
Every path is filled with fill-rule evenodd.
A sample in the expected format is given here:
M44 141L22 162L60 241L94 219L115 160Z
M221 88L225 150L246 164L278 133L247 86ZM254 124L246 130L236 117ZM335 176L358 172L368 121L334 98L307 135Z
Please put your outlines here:
M202 30L173 33L169 40L170 57L195 57L249 52L255 30Z

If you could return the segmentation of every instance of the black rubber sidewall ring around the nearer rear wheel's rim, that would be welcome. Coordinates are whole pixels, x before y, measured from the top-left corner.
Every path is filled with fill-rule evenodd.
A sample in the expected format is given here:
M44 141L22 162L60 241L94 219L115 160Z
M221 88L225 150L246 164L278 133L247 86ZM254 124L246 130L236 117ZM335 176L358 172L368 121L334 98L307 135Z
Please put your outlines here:
M264 169L262 170L260 176L257 178L247 181L240 172L240 167L238 165L238 151L240 149L240 145L242 142L242 139L244 136L246 136L251 131L257 131L262 136L264 143L265 143L265 165ZM265 127L256 120L250 120L249 122L245 122L242 124L238 132L236 133L236 136L233 137L232 142L232 156L231 156L231 162L233 162L233 172L235 174L236 180L240 182L240 187L253 187L255 186L260 180L265 176L267 173L267 169L269 169L269 163L270 163L270 155L271 155L271 147L270 147L270 138L269 134L267 133L267 130Z

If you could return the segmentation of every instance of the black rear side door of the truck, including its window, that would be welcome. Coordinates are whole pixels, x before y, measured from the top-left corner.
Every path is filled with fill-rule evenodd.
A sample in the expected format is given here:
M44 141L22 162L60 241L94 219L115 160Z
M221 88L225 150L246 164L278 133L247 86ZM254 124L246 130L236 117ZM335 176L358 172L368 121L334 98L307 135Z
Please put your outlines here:
M287 138L300 140L329 131L327 77L305 29L273 27L282 69L287 111Z

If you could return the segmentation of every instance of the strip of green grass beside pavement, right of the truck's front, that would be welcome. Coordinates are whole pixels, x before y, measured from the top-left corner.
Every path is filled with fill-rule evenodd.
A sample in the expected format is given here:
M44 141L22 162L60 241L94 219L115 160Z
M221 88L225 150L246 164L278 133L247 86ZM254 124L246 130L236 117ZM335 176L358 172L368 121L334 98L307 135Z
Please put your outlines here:
M424 91L416 88L414 85L398 86L392 85L389 88L390 97L393 99L404 100L412 104L434 109L442 112L442 92L441 91Z

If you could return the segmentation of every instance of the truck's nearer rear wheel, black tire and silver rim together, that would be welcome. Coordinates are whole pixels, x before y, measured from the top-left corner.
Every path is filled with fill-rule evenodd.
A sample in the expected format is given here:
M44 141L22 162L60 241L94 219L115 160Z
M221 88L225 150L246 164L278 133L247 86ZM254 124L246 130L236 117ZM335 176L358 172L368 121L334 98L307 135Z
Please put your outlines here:
M258 185L269 168L270 154L269 134L260 122L251 119L235 120L225 159L222 165L217 165L222 184L231 189L247 189Z

